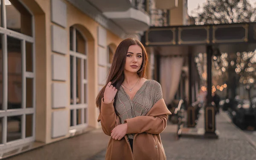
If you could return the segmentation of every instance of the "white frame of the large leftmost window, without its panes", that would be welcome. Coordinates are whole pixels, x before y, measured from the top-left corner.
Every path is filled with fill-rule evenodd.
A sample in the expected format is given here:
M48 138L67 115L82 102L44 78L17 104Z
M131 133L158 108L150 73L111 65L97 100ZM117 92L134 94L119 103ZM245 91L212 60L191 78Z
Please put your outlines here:
M7 29L6 23L6 5L1 2L2 10L2 27L0 26L0 34L2 38L2 53L3 54L3 110L0 110L0 118L2 119L2 144L0 144L0 150L12 148L17 145L29 143L35 141L35 17L32 12L18 0L32 15L32 37L24 35L19 32ZM8 50L7 50L7 36L19 39L21 41L21 54L22 54L22 104L21 108L8 109ZM32 72L26 72L26 42L32 43ZM33 79L33 94L32 94L32 108L26 108L26 78ZM26 114L33 115L32 122L32 137L26 138ZM21 116L21 139L7 142L7 117L8 116ZM0 138L2 138L0 137Z

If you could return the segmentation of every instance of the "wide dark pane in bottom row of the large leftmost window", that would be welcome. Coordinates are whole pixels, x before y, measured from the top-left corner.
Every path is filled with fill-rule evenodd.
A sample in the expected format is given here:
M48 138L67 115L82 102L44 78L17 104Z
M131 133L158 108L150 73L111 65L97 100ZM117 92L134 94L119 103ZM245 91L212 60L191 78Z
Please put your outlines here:
M21 139L21 116L7 117L7 142Z

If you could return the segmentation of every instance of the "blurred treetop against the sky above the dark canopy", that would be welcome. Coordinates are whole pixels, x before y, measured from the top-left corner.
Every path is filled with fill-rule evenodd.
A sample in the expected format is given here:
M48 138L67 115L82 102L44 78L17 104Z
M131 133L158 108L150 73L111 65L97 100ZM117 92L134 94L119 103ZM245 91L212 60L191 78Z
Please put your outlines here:
M256 21L256 8L248 0L207 0L192 11L195 24L243 23Z

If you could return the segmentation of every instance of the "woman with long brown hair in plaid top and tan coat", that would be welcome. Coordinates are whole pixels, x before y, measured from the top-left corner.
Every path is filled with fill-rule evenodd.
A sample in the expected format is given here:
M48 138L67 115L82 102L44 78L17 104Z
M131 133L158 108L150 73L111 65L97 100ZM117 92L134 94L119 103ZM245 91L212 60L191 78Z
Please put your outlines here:
M111 136L106 160L166 160L160 133L171 113L160 84L144 78L147 61L143 44L132 38L113 55L107 84L96 99L98 122Z

